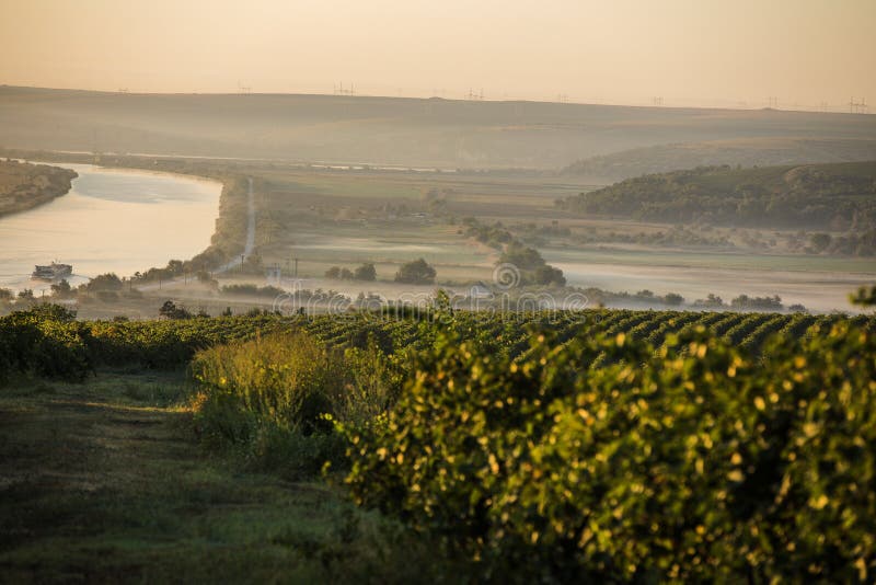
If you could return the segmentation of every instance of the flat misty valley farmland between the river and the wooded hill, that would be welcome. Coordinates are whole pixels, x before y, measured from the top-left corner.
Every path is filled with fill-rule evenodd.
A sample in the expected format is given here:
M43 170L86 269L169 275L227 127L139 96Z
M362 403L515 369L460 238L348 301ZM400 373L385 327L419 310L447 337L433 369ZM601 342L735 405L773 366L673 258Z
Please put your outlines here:
M87 162L87 154L7 151L19 157ZM208 176L222 181L220 217L214 244L184 264L189 277L165 274L139 288L142 298L114 302L83 297L83 316L128 314L150 318L170 296L211 314L232 307L270 308L273 299L223 297L193 283L199 269L212 269L238 259L246 239L246 177L254 179L255 263L246 269L217 273L219 287L267 283L265 268L280 271L283 287L336 290L351 298L377 294L396 299L406 292L429 294L434 287L397 286L399 267L424 257L437 269L436 286L457 292L493 282L500 250L470 232L502 226L512 237L538 249L560 266L569 286L658 296L680 294L685 306L715 294L782 297L785 306L803 305L816 312L848 311L845 294L874 277L869 257L806 251L814 232L792 228L733 228L641 221L601 216L578 217L556 200L597 188L579 176L548 172L414 172L373 169L326 169L280 162L102 156L102 164L143 168ZM766 171L764 171L766 172ZM769 172L773 172L770 170ZM773 173L774 174L774 173ZM845 233L827 231L833 242ZM186 260L186 259L181 259ZM298 271L296 272L296 262ZM355 268L371 262L373 283L326 278L333 266ZM125 276L125 275L120 275ZM654 307L629 300L595 299L612 307Z

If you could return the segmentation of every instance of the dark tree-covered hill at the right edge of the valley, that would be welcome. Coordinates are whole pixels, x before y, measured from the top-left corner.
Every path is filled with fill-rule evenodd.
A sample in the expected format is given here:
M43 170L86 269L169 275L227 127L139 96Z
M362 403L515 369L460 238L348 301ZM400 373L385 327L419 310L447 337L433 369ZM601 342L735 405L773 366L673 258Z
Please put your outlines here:
M703 167L627 179L557 204L648 221L876 233L876 162Z

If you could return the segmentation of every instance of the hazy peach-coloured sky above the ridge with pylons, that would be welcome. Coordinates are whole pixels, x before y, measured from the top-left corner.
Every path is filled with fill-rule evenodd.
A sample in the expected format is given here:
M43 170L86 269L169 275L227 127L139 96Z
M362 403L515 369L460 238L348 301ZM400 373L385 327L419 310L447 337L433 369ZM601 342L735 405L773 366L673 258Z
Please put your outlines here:
M0 83L876 102L876 0L0 0Z

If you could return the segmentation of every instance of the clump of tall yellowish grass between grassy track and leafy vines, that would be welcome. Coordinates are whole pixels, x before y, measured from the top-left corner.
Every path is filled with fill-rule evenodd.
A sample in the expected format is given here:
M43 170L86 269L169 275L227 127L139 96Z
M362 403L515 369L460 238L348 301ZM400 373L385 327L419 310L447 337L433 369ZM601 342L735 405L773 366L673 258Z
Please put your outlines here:
M341 462L344 444L332 418L368 424L394 402L402 382L397 363L376 343L343 352L304 332L204 349L192 376L201 439L293 475Z

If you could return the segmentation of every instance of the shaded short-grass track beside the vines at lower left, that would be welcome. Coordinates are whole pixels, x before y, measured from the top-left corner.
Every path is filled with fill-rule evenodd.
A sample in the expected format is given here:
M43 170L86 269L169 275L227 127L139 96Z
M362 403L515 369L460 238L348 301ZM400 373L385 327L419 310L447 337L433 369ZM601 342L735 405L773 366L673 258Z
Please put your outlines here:
M399 529L326 483L200 448L184 392L137 371L0 389L0 582L414 577Z

